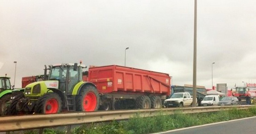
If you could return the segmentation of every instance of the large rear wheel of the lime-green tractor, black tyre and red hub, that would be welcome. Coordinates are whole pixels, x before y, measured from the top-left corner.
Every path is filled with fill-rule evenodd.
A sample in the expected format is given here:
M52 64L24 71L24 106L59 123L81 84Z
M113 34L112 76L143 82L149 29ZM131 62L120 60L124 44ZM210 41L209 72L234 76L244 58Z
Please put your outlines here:
M96 87L87 85L82 87L76 97L76 111L97 111L99 109L99 92Z

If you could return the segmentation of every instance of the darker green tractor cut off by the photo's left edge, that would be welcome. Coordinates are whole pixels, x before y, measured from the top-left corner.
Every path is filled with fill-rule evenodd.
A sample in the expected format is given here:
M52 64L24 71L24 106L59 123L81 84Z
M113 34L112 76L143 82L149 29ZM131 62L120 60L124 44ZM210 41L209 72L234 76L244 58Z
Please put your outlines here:
M11 100L13 87L9 77L0 77L0 116L4 115L6 103Z

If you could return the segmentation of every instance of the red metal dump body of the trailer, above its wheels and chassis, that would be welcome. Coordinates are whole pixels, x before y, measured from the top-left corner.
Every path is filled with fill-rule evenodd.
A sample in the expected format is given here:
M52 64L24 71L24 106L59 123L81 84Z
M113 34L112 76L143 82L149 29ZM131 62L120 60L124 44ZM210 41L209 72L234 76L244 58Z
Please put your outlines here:
M88 80L96 85L99 93L143 92L170 95L170 76L117 65L91 67Z

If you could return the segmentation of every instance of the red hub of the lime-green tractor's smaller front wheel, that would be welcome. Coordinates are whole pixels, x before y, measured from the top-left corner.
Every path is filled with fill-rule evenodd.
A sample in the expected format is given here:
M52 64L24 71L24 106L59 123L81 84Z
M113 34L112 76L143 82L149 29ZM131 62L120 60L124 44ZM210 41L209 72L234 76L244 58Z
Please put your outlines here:
M45 113L53 114L58 112L58 101L54 98L49 99L45 105Z

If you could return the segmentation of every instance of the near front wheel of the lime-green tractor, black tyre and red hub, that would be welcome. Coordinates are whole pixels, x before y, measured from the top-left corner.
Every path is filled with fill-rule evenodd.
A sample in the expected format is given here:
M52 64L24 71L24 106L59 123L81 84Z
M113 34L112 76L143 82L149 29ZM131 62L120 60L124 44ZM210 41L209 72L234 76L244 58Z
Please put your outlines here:
M35 113L55 114L61 112L62 101L55 92L50 92L40 97L35 105Z

